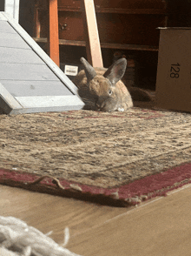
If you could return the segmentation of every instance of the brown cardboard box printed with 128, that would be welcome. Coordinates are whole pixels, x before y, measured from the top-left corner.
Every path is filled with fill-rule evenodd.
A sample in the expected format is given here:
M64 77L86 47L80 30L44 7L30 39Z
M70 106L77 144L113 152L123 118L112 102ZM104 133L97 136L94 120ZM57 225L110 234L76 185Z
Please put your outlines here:
M191 28L160 28L156 107L191 111Z

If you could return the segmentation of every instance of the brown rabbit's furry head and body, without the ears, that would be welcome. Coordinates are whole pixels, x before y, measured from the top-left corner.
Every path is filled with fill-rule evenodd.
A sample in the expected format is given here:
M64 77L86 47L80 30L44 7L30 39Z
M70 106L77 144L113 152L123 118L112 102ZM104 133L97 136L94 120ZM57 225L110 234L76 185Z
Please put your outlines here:
M79 96L86 104L86 109L97 111L127 111L133 106L127 87L119 80L115 85L103 77L107 69L95 68L96 76L88 83L85 71L80 71L74 79ZM112 94L109 95L109 91Z

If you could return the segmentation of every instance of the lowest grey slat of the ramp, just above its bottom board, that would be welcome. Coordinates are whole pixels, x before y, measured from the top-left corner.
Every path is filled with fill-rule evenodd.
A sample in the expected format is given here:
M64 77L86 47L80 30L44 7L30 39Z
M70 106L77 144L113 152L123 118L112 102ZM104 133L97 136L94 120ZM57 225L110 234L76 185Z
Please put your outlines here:
M2 84L14 97L73 95L61 81L3 80Z

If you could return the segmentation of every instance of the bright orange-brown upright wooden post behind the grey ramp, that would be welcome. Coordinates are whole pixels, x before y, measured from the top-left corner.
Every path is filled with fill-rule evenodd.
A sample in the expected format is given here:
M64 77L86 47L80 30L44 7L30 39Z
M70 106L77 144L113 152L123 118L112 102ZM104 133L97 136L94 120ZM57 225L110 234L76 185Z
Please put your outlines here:
M57 0L49 0L49 57L60 66Z

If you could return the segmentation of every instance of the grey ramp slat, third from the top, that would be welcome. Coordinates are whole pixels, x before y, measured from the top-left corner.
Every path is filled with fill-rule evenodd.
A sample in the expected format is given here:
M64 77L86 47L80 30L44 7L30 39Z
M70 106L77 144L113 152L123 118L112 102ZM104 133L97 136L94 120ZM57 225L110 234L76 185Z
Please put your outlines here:
M44 64L43 60L31 49L0 47L0 56L0 63Z

